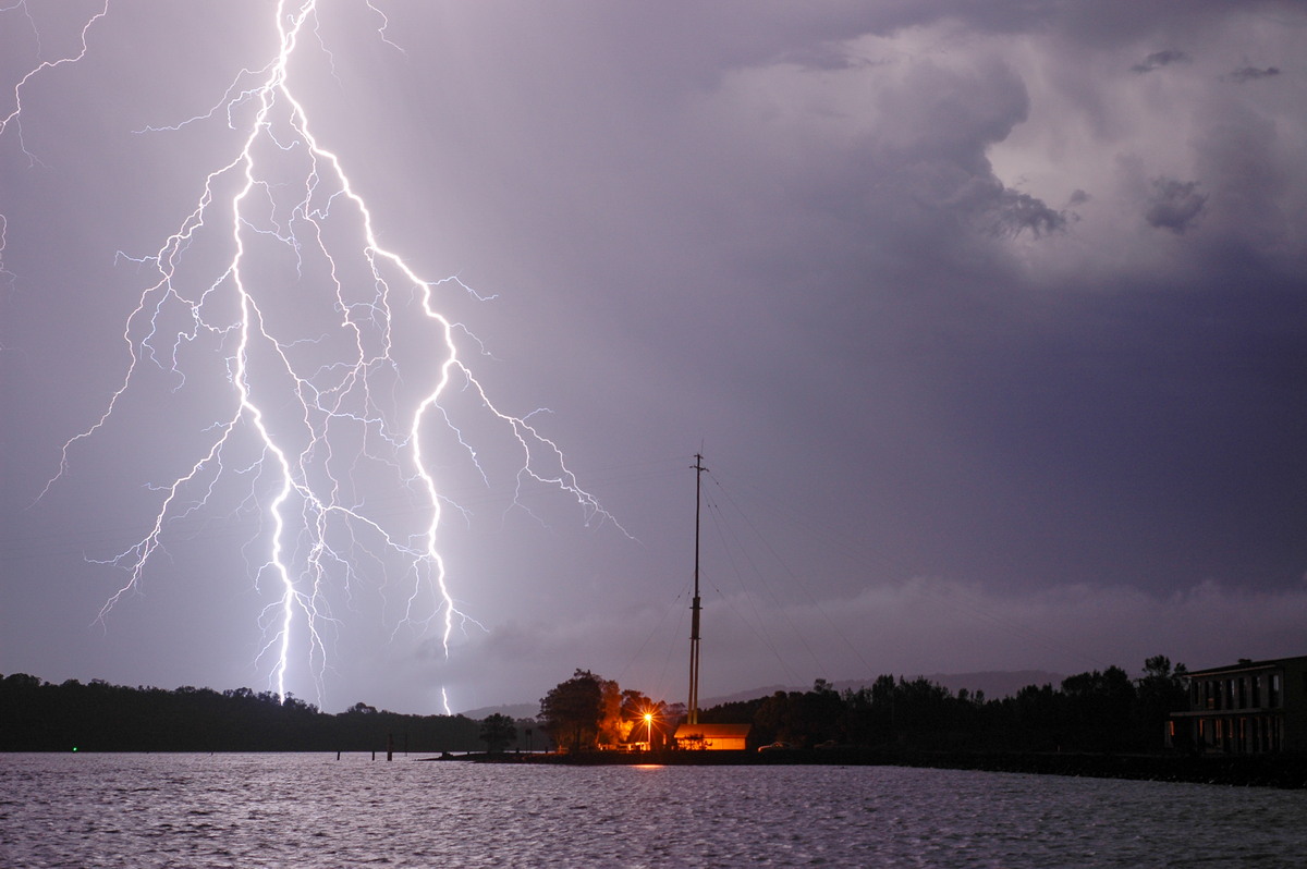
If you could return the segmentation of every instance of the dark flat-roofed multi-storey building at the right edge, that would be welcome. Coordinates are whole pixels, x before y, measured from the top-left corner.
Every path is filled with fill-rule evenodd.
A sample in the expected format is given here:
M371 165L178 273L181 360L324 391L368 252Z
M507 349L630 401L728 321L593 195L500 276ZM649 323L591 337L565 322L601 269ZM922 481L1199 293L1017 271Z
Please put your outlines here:
M1307 753L1307 655L1189 673L1189 708L1168 744L1225 754Z

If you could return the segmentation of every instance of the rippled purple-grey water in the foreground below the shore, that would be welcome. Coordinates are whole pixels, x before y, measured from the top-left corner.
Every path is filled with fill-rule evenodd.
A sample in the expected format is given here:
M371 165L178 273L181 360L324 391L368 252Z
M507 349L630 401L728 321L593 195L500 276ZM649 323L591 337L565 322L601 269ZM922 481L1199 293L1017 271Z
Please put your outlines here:
M1307 792L898 767L0 755L0 866L1302 865Z

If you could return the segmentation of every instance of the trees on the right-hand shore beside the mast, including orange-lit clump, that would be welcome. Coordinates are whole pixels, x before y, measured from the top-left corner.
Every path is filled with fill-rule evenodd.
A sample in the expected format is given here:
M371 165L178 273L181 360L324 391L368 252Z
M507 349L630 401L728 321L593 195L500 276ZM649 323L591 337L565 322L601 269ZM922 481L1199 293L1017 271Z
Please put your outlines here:
M957 694L925 678L881 676L857 690L836 691L818 680L809 691L776 691L699 712L702 724L752 724L752 746L783 742L976 751L1158 751L1171 712L1187 706L1185 666L1150 657L1131 678L1119 666L1030 685L1013 697ZM578 669L540 702L541 727L557 745L580 751L643 741L642 716L652 711L654 747L665 746L684 707ZM1183 747L1183 746L1182 746Z

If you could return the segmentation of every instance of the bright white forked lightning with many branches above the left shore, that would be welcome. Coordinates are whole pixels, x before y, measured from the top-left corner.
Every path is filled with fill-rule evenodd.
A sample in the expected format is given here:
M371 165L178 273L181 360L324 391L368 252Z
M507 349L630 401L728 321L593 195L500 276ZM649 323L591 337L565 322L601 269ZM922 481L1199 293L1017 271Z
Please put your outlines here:
M370 0L362 5L380 21L378 37L393 46L384 14ZM26 12L26 4L0 12L16 9ZM84 57L108 12L106 0L86 21L80 51L42 61L18 81L0 136L12 132L21 141L25 86ZM265 663L269 683L285 697L293 661L306 660L320 702L329 627L337 621L333 589L348 595L366 582L382 588L397 572L401 614L391 636L403 626L434 631L446 657L454 632L477 625L457 608L439 550L444 511L467 512L442 491L442 444L490 485L469 427L501 433L494 436L516 456L514 506L527 510L524 489L546 486L574 499L587 524L621 525L533 423L540 412L501 410L474 376L464 346L485 349L442 307L451 293L486 297L456 277L423 278L383 247L372 210L340 157L314 135L293 88L291 60L314 38L327 52L318 12L316 0L280 0L268 21L276 52L261 68L242 69L207 112L137 131L167 135L225 122L239 144L204 175L193 208L153 254L118 255L120 264L150 276L123 327L125 371L102 414L63 444L38 500L68 473L80 442L127 413L124 396L148 388L146 371L162 371L182 391L196 376L192 359L201 359L201 370L207 359L207 376L221 387L212 422L195 433L199 447L188 464L152 486L157 511L141 537L98 559L125 572L98 621L140 589L170 524L212 510L220 489L234 481L243 493L239 511L264 524L252 541L261 541L260 554L250 562L255 587L268 597L256 661ZM37 161L26 145L24 153ZM412 385L414 370L425 385ZM396 511L387 510L395 500L421 507L420 527L395 519ZM443 687L440 694L448 712Z

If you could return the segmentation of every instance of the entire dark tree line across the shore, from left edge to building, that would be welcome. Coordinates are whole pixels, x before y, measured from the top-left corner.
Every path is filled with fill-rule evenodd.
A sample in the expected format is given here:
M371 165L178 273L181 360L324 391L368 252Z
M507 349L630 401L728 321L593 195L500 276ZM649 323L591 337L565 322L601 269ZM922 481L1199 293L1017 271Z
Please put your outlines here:
M836 691L776 691L699 712L703 724L752 724L752 747L784 742L976 751L1155 751L1187 704L1185 668L1163 655L1131 678L1119 666L1030 685L1013 697L957 694L924 678L881 676ZM569 751L673 747L684 704L621 689L589 670L540 700L536 721L490 715L401 715L356 703L336 715L290 694L125 687L95 680L51 685L0 678L0 751ZM1183 747L1183 746L1182 746Z

